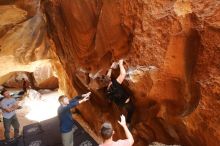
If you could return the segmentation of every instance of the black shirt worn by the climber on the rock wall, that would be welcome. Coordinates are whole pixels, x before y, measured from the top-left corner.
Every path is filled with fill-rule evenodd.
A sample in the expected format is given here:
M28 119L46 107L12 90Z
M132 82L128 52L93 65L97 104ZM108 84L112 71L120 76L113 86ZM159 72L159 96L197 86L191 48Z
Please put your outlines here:
M112 80L112 84L110 85L109 89L107 89L107 97L117 105L123 106L125 101L129 98L129 94L122 87L122 85L114 79Z

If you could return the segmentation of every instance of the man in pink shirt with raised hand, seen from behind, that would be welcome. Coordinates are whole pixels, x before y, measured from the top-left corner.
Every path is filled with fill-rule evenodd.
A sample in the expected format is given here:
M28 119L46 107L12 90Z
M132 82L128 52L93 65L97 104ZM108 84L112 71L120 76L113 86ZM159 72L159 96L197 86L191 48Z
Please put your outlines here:
M113 141L112 137L114 134L114 130L112 128L112 125L111 123L105 122L101 127L101 136L104 141L99 146L132 146L134 144L133 136L131 135L131 132L126 125L124 115L121 116L121 121L118 121L118 123L123 127L127 139Z

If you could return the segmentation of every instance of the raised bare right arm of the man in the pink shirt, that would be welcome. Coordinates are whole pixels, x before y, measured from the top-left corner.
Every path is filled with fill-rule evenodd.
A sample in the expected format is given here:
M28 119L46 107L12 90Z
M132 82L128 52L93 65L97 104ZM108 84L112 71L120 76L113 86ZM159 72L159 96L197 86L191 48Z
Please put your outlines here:
M125 131L125 135L129 141L129 143L131 145L134 144L134 138L131 134L131 132L129 131L127 125L126 125L126 120L125 120L125 116L124 115L121 115L121 121L118 121L118 123L123 127L124 131Z

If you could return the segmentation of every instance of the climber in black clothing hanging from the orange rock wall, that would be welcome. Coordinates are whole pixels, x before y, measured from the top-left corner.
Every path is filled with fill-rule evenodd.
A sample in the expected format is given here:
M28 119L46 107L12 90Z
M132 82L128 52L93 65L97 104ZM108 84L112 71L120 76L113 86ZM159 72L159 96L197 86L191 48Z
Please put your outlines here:
M111 78L112 69L116 69L117 66L120 68L120 75L116 79ZM131 101L129 93L122 87L122 82L126 76L126 70L123 66L123 59L119 60L118 63L114 62L111 68L108 70L105 82L108 82L106 89L107 97L110 101L114 102L119 107L127 111L126 122L128 125L131 123L132 114L134 112L134 105Z

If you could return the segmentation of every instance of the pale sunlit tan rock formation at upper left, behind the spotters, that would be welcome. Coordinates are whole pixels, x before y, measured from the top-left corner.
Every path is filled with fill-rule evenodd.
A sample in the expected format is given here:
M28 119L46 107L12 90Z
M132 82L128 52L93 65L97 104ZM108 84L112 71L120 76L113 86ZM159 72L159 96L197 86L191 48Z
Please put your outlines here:
M33 72L35 87L57 88L40 1L1 1L0 4L0 83L11 77L6 86L22 87L22 82L14 77L17 72L26 71Z

